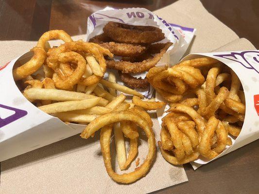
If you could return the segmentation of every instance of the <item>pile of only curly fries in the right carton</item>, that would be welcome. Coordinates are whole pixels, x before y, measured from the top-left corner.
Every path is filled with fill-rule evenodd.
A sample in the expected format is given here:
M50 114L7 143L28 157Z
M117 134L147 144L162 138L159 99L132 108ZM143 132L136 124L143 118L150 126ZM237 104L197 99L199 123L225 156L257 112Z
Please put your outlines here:
M232 145L228 134L235 138L242 129L245 98L230 68L204 57L171 68L153 67L147 78L171 101L158 142L166 161L184 164L199 155L211 160Z

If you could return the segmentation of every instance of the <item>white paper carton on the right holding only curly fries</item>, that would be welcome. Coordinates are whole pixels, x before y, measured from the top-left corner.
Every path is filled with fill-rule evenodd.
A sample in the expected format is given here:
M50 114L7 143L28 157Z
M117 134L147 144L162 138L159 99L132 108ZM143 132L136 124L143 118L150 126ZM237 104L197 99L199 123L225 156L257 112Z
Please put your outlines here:
M204 56L212 57L229 66L239 77L245 94L245 119L241 133L236 139L229 136L232 139L232 146L226 146L226 149L213 159L215 160L259 139L259 50L195 53L189 54L181 61ZM156 93L156 98L157 100L163 100L158 93ZM169 106L167 105L165 110L168 108ZM156 112L160 125L162 123L161 119L166 115L165 110ZM206 164L213 160L198 159L194 162Z

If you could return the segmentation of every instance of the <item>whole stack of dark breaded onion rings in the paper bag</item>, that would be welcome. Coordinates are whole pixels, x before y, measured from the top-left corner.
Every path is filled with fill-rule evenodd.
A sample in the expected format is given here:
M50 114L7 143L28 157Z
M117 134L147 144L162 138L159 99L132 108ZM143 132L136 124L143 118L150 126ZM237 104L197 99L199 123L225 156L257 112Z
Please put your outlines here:
M122 57L121 61L107 59L107 67L121 71L121 81L125 84L133 88L146 88L146 79L137 79L129 74L142 73L154 67L172 43L155 43L165 37L159 28L152 26L108 22L103 30L103 34L91 38L89 42Z

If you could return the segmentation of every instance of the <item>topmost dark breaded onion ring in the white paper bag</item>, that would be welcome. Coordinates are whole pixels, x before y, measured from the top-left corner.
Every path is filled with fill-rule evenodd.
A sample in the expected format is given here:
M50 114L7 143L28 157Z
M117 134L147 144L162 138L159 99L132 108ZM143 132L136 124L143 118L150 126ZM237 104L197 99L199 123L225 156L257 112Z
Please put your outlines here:
M154 43L165 38L162 31L153 26L131 26L108 22L103 30L106 36L121 43Z

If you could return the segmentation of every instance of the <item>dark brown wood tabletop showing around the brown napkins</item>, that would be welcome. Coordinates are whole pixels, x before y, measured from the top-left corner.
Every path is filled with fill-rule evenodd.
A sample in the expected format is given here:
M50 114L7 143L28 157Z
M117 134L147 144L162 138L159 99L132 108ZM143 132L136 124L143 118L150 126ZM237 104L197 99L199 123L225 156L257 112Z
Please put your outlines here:
M37 40L48 30L86 33L86 18L106 6L151 11L176 0L0 0L0 40ZM259 48L259 0L201 0L212 15ZM258 194L259 140L193 171L188 182L159 194Z

